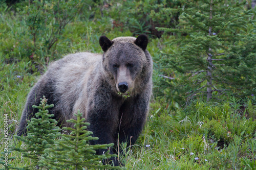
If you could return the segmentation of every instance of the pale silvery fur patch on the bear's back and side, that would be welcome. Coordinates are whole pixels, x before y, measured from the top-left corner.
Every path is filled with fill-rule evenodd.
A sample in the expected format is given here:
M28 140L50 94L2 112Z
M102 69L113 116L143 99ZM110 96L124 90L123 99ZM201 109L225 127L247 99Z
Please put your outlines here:
M93 70L99 67L102 60L101 54L76 53L70 54L61 60L52 63L46 73L55 80L56 93L60 94L61 105L56 105L61 110L64 120L75 118L78 109L85 114L87 100L87 83L95 73ZM98 70L100 71L100 69ZM70 101L74 101L72 112L70 112ZM59 107L58 107L59 106Z

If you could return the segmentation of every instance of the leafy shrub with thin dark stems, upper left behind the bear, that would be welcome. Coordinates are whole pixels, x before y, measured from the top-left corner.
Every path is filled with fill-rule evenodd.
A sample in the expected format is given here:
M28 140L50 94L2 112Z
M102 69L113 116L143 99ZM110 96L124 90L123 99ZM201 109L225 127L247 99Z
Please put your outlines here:
M28 2L26 1L25 4ZM66 25L74 20L83 3L84 1L80 0L33 1L18 9L18 12L26 16L29 38L34 45L32 52L38 54L40 48L50 52L52 47L55 48L56 42L62 38Z

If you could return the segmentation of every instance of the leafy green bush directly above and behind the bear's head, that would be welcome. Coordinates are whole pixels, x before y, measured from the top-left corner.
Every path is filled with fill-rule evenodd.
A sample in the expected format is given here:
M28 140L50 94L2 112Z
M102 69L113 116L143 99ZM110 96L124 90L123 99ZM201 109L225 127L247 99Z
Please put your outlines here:
M176 1L131 1L122 3L110 1L109 6L103 7L103 13L113 18L113 27L125 27L133 35L151 34L160 38L162 32L155 27L175 28L178 20L178 13L165 13L165 9L175 8L179 2Z

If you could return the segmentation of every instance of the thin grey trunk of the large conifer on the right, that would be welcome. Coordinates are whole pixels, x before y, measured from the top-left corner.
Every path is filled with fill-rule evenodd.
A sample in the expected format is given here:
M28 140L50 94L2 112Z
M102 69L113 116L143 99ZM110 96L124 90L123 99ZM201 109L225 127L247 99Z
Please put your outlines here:
M213 0L210 1L210 17L209 19L211 20L212 19L212 4L213 4ZM210 21L211 22L211 21ZM210 23L211 25L211 23ZM211 33L211 29L212 27L210 26L209 27L209 33L208 35L211 36L212 33ZM209 100L212 98L212 55L211 55L211 48L209 46L208 48L208 58L207 58L207 61L208 61L208 66L207 66L207 102L209 102Z

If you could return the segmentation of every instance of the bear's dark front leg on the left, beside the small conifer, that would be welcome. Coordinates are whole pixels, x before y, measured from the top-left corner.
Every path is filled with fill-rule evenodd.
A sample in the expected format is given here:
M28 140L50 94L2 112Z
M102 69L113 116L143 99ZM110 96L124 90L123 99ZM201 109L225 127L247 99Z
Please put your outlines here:
M99 95L99 94L98 94ZM97 96L96 100L92 102L92 107L89 108L87 114L87 122L90 123L88 129L93 132L94 137L98 137L98 140L90 141L90 144L109 144L114 143L114 135L118 127L118 109L110 99L106 99L106 96ZM109 104L109 102L111 102ZM113 149L99 149L97 155L102 155L110 151L110 154L114 154ZM119 165L119 161L116 157L112 157L108 160L102 160L103 164L112 164L114 166Z

